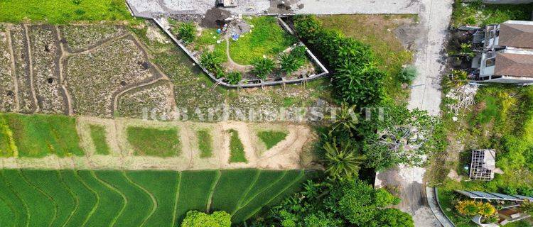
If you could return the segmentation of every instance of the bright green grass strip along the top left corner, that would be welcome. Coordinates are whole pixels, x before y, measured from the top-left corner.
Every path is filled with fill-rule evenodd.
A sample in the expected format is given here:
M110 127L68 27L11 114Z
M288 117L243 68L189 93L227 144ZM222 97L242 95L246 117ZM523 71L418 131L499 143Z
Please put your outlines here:
M0 21L30 20L65 24L73 21L134 21L122 0L4 0Z

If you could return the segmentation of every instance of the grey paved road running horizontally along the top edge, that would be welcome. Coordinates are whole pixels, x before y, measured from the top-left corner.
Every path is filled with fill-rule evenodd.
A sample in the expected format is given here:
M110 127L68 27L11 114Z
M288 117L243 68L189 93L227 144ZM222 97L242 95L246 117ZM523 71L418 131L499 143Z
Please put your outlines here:
M215 0L126 0L135 16L152 17L160 14L199 14L215 6ZM290 9L279 9L278 1L236 0L237 7L226 8L232 13L418 13L419 0L286 0Z

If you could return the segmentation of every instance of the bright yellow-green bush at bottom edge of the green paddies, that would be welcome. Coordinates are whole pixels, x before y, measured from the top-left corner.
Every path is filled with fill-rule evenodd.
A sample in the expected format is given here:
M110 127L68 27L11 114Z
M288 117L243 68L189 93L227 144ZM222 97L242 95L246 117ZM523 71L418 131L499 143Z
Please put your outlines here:
M225 211L215 211L213 214L188 211L181 222L181 227L230 227L231 218L232 216Z

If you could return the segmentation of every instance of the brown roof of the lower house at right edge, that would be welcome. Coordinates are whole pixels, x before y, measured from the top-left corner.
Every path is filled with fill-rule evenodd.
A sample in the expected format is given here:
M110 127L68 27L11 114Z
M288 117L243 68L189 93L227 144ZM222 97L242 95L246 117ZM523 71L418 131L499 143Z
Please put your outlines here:
M494 74L533 77L533 54L497 52Z

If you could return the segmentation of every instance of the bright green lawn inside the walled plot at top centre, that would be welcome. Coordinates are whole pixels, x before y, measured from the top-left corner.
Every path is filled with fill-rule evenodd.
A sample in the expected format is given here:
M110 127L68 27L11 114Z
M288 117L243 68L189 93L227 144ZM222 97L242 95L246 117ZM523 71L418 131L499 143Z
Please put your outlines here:
M258 16L246 19L254 25L252 33L239 40L230 40L230 56L240 65L252 65L254 58L274 57L298 40L286 33L273 16Z

